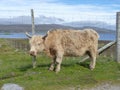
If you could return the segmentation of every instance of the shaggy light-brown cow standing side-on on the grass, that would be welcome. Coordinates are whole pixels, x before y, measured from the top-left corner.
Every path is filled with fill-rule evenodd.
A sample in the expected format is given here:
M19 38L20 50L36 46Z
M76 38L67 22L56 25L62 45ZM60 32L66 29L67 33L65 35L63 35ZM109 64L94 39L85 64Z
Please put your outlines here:
M99 35L93 29L53 29L45 36L34 35L30 38L30 55L37 56L39 52L45 51L52 58L49 70L59 72L63 56L87 54L91 58L90 69L93 70L96 64L98 38Z

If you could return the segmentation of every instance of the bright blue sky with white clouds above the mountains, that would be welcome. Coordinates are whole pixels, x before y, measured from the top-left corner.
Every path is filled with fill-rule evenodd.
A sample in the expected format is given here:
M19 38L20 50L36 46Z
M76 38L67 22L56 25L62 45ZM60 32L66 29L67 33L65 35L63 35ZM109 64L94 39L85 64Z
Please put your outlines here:
M0 18L44 15L72 21L103 21L115 24L120 0L0 0Z

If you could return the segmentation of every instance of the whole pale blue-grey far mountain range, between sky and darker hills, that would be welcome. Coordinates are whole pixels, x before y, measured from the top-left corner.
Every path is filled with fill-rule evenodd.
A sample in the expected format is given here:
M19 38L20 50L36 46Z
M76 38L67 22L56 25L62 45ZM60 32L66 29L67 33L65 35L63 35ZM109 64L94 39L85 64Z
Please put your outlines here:
M18 17L12 17L12 18L0 18L0 24L2 24L2 25L18 24L18 26L20 24L31 24L31 17L30 16L18 16ZM88 21L67 22L61 18L46 17L44 15L40 15L39 17L35 17L35 24L36 25L42 24L42 26L44 26L44 24L50 24L50 27L51 27L51 24L59 24L59 25L61 24L62 27L63 26L66 26L66 27L69 26L69 27L75 27L75 28L97 27L97 28L105 28L107 30L115 30L115 25L111 25L111 24L101 22L101 21L89 21L88 20Z

